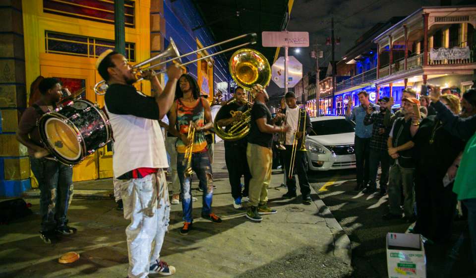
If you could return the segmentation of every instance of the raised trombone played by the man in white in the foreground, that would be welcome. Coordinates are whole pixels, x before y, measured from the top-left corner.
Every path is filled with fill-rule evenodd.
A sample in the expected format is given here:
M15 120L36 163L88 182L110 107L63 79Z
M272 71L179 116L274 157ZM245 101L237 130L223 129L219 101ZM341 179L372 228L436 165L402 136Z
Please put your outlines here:
M198 50L195 50L195 51L183 54L183 55L179 54L179 49L175 45L174 40L172 38L170 38L170 44L169 44L169 47L167 47L166 50L164 50L163 52L161 52L160 54L158 54L154 57L151 57L151 58L149 58L149 59L147 59L147 60L145 60L145 61L143 61L143 62L141 62L137 65L132 66L131 71L135 76L138 77L137 81L141 81L141 80L144 79L142 74L146 70L152 70L154 68L157 68L159 66L167 64L167 63L172 62L174 60L179 60L180 63L181 63L181 58L183 58L185 56L189 56L189 55L192 55L192 54L195 54L195 53L198 53L198 52L202 52L202 51L207 50L209 48L217 47L219 45L229 43L229 42L232 42L232 41L236 41L236 40L239 40L239 39L242 39L242 38L248 38L249 41L246 42L246 43L242 43L240 45L234 46L234 47L227 48L227 49L219 51L219 52L215 52L213 54L210 54L210 55L207 55L207 56L204 56L204 57L200 57L198 59L195 59L195 60L183 63L183 64L179 64L177 67L183 67L183 66L195 63L197 61L208 59L212 56L216 56L216 55L219 55L219 54L222 54L222 53L225 53L225 52L237 49L237 48L241 48L241 47L245 47L247 45L255 44L256 43L256 33L249 33L249 34L240 35L240 36L237 36L237 37L234 37L234 38L231 38L231 39L228 39L228 40L216 43L216 44L212 44L212 45L200 48ZM156 60L164 59L164 58L170 58L170 59L167 59L165 61L162 61L162 62L154 64L154 65L150 65L149 67L142 68L143 66L145 66L147 64L150 64L150 63L152 63ZM163 73L163 72L166 72L166 71L167 70L162 70L162 71L157 72L156 74L160 74L160 73ZM104 95L106 93L107 89L108 89L108 84L106 83L105 80L99 81L98 83L96 83L94 85L94 92L98 95Z

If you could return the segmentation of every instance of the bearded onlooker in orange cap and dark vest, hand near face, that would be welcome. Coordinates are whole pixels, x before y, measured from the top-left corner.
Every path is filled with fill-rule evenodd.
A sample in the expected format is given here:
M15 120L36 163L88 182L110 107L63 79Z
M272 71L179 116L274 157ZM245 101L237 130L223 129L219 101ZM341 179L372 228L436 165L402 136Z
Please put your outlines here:
M415 143L412 141L410 127L419 125L418 121L413 120L415 108L418 109L418 106L419 101L414 97L402 99L403 117L395 120L387 140L391 166L388 184L389 213L383 215L385 220L402 218L400 209L402 188L405 219L407 222L415 220L413 193L415 163L412 150Z

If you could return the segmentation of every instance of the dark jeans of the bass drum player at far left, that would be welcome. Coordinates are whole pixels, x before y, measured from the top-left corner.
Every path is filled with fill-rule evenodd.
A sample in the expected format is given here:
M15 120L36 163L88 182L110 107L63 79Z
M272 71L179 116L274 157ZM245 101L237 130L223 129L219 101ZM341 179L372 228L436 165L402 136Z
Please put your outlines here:
M73 168L46 158L30 157L30 162L40 188L42 231L66 225L73 196Z

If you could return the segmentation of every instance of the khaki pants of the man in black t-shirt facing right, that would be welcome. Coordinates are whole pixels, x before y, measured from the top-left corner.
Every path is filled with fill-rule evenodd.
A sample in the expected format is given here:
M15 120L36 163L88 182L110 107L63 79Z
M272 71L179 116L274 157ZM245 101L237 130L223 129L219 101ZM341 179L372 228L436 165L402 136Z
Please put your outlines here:
M271 148L248 143L246 147L251 180L249 181L249 205L257 207L268 202L268 186L271 182L273 151Z

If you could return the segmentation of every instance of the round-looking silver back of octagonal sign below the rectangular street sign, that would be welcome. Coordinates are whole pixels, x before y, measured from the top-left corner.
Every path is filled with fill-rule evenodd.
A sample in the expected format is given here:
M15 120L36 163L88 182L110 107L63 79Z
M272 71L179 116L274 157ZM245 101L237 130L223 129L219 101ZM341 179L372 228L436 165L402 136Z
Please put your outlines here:
M294 87L302 78L302 64L297 61L294 56L288 57L288 87ZM271 67L271 79L280 88L286 87L284 81L286 80L284 72L284 57L281 56L274 62Z

